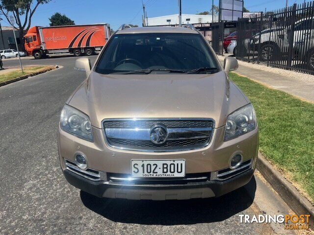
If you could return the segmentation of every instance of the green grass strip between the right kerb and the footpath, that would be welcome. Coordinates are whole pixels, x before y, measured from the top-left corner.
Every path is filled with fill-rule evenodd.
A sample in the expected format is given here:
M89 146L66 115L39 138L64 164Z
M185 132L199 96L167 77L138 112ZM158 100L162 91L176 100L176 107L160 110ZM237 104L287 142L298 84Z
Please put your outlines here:
M260 152L314 201L314 104L247 77L230 79L251 100L259 123Z

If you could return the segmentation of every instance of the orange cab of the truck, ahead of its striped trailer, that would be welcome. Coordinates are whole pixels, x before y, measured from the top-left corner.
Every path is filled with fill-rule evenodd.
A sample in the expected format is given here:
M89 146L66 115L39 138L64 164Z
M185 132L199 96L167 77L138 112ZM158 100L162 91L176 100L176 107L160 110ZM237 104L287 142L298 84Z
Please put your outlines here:
M38 28L39 26L29 28L24 36L27 55L33 55L36 51L40 50L41 41Z

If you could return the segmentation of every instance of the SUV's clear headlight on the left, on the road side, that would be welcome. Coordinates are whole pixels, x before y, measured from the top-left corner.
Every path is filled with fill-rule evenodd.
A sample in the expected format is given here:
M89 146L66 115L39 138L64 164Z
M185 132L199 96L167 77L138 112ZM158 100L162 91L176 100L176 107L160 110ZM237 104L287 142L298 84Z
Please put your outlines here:
M60 117L61 129L87 141L93 141L92 125L86 114L64 105Z

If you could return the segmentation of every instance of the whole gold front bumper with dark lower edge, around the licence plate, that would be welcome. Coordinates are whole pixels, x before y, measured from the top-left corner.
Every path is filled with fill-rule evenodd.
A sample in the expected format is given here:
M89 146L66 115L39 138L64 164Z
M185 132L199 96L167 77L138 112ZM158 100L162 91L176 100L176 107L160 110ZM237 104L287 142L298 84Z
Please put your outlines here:
M58 149L61 169L67 181L98 197L150 200L218 197L247 184L256 167L259 143L258 128L233 140L223 141L225 128L219 127L214 130L208 146L179 152L140 152L115 149L106 144L102 129L92 128L94 142L79 139L59 127ZM76 153L83 153L87 158L88 168L100 175L96 181L83 177L79 172L74 172L73 168L69 168L68 164L75 163ZM229 161L237 153L243 156L243 164L247 162L250 164L234 174L229 168ZM185 175L209 174L209 177L201 182L188 181L188 183L176 182L173 184L168 182L134 183L134 181L126 183L110 179L110 174L118 175L117 177L131 177L131 160L134 159L184 159ZM226 170L230 171L228 177L221 177Z

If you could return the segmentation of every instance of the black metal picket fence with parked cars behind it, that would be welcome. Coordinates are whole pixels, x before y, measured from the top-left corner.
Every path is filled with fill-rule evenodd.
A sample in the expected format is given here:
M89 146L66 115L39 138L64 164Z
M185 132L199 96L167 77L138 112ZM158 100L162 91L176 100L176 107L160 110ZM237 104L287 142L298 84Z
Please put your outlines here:
M236 30L238 59L314 74L314 2L239 19Z

